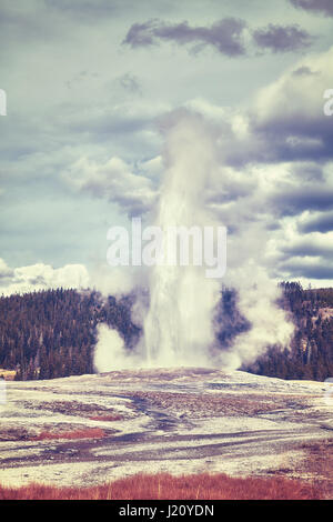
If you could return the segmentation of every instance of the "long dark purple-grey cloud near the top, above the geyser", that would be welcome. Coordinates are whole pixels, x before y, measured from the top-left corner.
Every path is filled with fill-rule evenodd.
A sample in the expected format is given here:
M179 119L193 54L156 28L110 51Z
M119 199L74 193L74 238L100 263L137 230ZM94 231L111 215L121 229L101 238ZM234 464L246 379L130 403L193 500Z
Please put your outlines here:
M235 18L224 18L209 27L191 27L186 21L165 23L154 19L143 23L134 23L127 33L123 43L137 47L158 44L159 41L172 41L179 46L194 44L192 50L200 51L210 46L229 57L245 54L242 41L246 23Z

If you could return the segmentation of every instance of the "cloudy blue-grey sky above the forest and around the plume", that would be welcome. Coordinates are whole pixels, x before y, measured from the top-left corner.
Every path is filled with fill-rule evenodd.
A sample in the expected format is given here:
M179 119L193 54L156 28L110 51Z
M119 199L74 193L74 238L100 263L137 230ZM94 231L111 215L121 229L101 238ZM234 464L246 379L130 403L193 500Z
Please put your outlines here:
M107 232L155 204L182 110L218 135L208 204L249 223L233 258L333 285L331 0L1 0L0 26L0 293L125 285Z

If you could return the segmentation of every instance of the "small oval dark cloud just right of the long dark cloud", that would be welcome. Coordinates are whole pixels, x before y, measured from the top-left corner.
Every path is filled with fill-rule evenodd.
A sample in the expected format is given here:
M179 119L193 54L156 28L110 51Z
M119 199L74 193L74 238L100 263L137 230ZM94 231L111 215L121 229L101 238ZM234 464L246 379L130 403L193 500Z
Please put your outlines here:
M309 32L296 24L284 27L270 23L253 31L252 36L258 47L273 52L297 51L307 48L312 42Z

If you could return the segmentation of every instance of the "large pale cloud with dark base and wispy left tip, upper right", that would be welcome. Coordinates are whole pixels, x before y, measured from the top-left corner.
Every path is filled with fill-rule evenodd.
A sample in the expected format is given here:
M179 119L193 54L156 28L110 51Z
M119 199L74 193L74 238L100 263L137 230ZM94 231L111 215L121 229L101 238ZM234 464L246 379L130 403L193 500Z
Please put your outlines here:
M319 179L333 159L332 118L324 114L324 92L333 84L333 48L294 62L259 89L248 110L215 107L204 100L186 106L220 128L224 164L294 163L301 178ZM301 187L301 185L300 185Z

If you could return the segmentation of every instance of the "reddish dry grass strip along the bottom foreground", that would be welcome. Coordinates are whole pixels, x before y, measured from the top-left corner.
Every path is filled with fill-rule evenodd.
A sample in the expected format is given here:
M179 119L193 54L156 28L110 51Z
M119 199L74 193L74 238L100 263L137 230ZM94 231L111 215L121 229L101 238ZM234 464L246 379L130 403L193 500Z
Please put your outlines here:
M29 484L0 486L0 500L317 500L312 485L284 478L236 479L225 474L133 475L84 489Z

